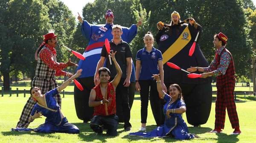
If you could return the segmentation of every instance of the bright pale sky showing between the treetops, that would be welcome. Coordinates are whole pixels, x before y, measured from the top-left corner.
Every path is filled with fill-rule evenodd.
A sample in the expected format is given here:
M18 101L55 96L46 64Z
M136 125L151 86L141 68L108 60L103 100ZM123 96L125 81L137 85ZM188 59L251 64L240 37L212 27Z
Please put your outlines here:
M94 0L61 0L70 10L74 16L78 16L77 12L82 15L83 7L86 3L92 3ZM256 0L252 0L256 6Z

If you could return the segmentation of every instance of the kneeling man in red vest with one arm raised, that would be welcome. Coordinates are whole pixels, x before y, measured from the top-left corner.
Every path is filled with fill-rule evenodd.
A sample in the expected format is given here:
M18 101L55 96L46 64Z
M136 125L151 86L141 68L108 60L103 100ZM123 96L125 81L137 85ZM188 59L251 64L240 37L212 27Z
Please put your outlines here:
M118 116L116 116L116 87L122 77L122 70L116 62L115 53L111 57L116 67L116 76L109 82L110 70L101 67L98 70L100 83L90 92L89 107L94 107L94 116L90 127L97 134L102 134L102 126L107 129L107 135L117 135Z

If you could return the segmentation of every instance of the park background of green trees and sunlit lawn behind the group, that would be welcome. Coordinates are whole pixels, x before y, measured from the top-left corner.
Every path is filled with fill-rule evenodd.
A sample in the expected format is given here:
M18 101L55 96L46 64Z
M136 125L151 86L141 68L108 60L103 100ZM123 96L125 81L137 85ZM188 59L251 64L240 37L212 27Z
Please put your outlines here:
M79 3L76 3L79 5ZM151 31L157 33L156 23L170 23L171 13L180 13L181 20L193 17L203 31L198 43L208 62L214 56L212 44L213 35L223 32L227 35L227 48L233 54L236 76L237 99L236 105L240 119L242 134L230 136L229 119L226 117L224 134L207 133L214 127L215 92L213 92L212 110L209 120L201 127L189 125L189 131L201 138L189 141L173 139L144 139L129 137L119 126L118 137L97 137L89 129L88 124L82 123L77 117L73 101L73 85L64 92L63 112L71 123L75 123L81 133L67 134L38 134L9 132L16 126L23 106L29 96L31 79L35 74L35 50L41 44L48 29L55 29L58 40L83 53L88 41L81 34L81 24L76 20L74 12L70 11L59 0L1 0L0 1L0 138L1 142L195 142L195 143L253 143L256 142L255 111L255 68L256 68L256 8L252 0L94 0L82 8L82 16L93 24L105 23L105 12L111 9L114 13L114 24L130 27L142 19L143 25L138 28L138 34L131 42L133 59L137 50L143 48L143 35ZM81 11L81 9L78 9ZM154 45L157 48L157 45ZM78 59L60 47L56 47L58 62ZM135 61L135 60L134 60ZM67 68L75 72L75 68ZM65 77L59 77L61 84ZM215 79L213 78L213 81ZM250 85L249 85L249 84ZM246 87L248 85L248 87ZM216 90L212 84L213 91ZM10 88L11 87L11 88ZM254 87L254 88L253 88ZM24 90L25 89L25 90ZM25 98L24 98L25 95ZM18 96L18 97L17 97ZM63 93L62 93L63 96ZM134 106L131 109L132 132L140 128L140 96L135 95ZM154 118L148 107L148 131L154 129ZM183 115L186 120L186 116ZM37 127L44 118L33 122L30 127Z

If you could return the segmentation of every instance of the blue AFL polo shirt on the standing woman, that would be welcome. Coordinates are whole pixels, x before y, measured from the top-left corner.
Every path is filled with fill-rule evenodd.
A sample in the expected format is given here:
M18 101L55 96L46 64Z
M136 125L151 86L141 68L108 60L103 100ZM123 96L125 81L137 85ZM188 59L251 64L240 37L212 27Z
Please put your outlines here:
M148 53L146 48L140 49L137 52L136 60L140 61L141 70L139 80L153 80L153 74L159 74L158 61L163 61L163 56L160 50L152 48Z

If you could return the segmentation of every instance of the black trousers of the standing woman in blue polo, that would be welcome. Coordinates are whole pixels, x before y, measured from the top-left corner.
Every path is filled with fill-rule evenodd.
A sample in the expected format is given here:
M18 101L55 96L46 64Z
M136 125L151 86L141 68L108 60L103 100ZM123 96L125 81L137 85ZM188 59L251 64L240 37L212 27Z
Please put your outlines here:
M157 83L154 80L140 80L140 115L141 115L141 123L147 123L148 116L148 95L150 91L150 105L152 109L152 113L154 115L154 119L157 123L157 126L161 126L164 124L164 114L163 114L163 100L159 98L157 92Z

